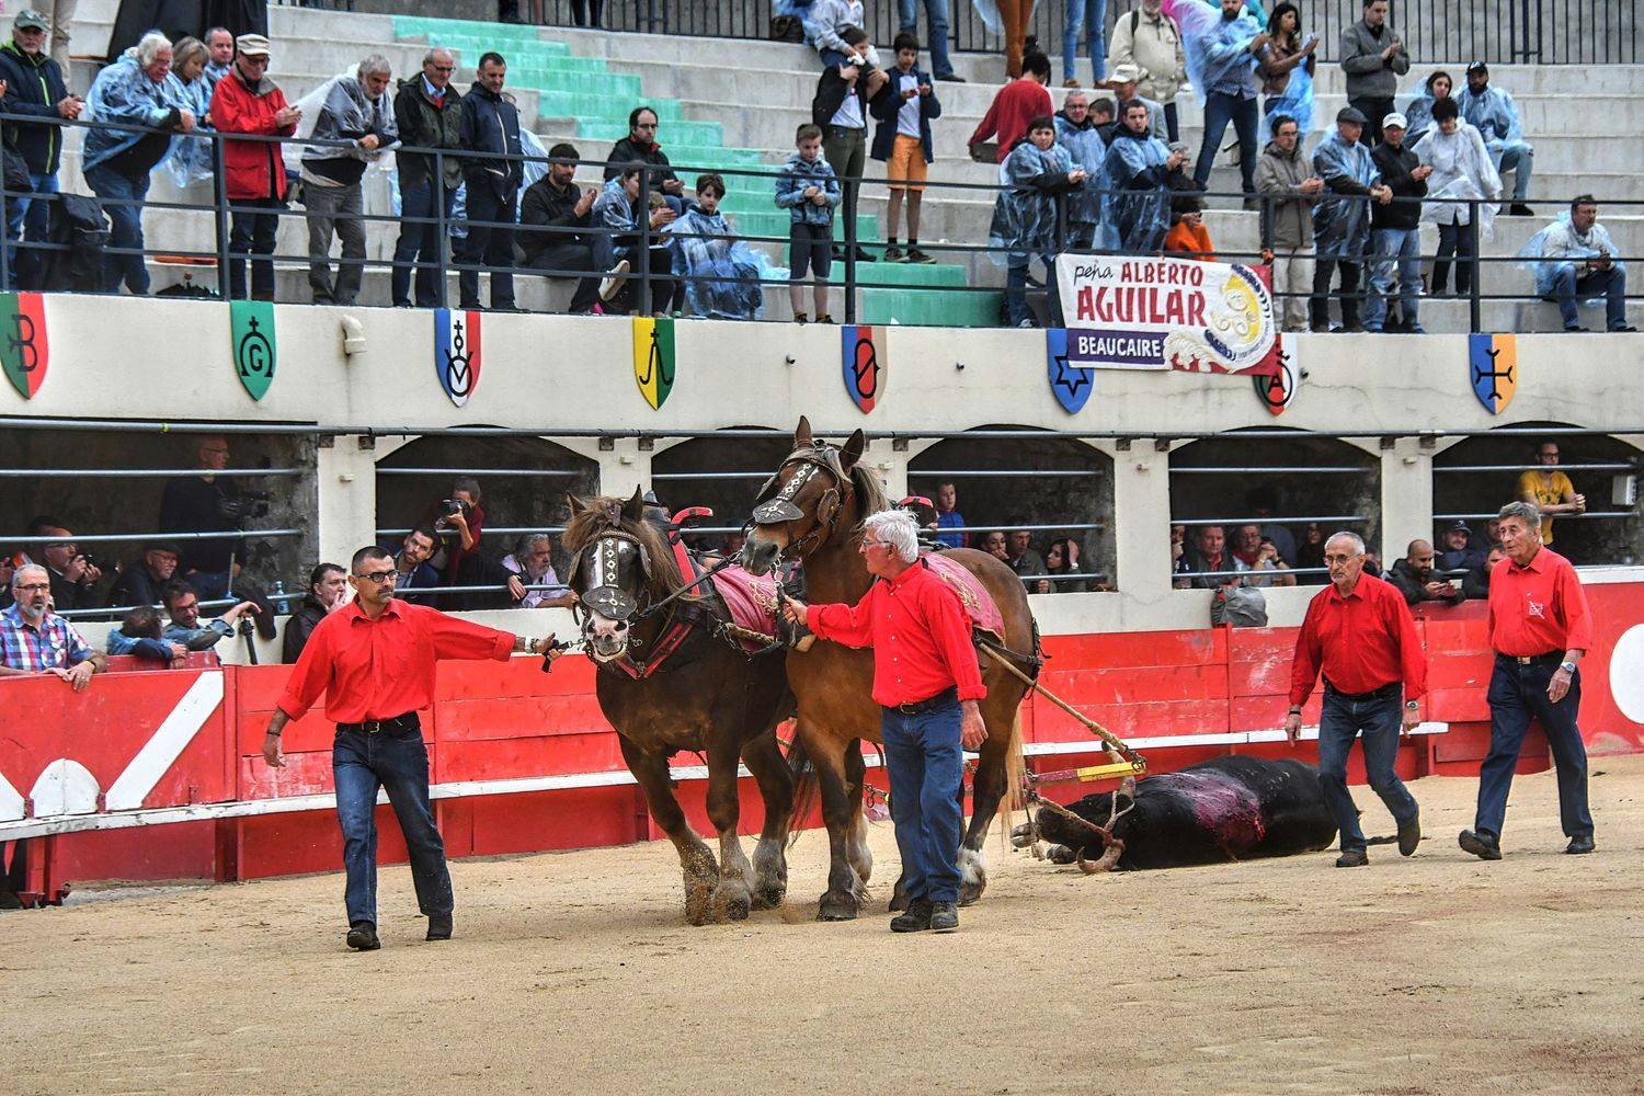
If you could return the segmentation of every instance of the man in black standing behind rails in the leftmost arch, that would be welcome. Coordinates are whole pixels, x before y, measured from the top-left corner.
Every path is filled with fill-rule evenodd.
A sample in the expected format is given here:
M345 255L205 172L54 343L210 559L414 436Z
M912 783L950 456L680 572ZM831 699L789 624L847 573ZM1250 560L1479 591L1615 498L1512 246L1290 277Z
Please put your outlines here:
M206 434L196 449L196 475L169 480L159 496L163 532L238 532L248 518L268 516L268 493L242 491L219 475L229 467L229 439ZM229 587L245 562L240 536L184 541L178 570L207 598L229 596ZM273 638L271 634L268 636Z

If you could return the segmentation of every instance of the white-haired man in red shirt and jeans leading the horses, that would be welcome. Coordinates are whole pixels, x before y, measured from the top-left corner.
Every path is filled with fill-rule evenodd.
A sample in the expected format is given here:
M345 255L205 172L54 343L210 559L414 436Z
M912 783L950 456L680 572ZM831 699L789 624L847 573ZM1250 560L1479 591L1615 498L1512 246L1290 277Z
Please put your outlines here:
M988 695L958 595L919 559L919 526L904 509L863 523L861 555L875 582L857 605L784 601L784 615L822 639L873 647L873 698L891 779L907 910L891 932L958 928L958 840L965 754L988 736ZM963 749L962 749L963 748Z

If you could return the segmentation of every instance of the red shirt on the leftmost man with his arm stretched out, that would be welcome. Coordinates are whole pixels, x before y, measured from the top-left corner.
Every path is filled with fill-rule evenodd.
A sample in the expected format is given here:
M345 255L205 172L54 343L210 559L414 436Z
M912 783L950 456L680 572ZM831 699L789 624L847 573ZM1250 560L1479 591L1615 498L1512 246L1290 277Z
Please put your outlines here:
M358 603L337 610L309 636L279 710L301 720L326 693L326 716L337 723L390 720L434 698L439 659L496 659L515 638L395 598L375 621Z

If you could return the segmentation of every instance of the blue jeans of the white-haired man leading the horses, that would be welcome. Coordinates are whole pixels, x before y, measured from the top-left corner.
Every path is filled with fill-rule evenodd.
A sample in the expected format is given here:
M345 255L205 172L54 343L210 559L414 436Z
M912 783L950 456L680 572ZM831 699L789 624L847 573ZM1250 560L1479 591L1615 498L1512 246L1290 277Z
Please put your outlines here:
M958 841L965 754L958 746L963 721L958 702L932 711L904 715L884 708L884 769L891 777L891 822L903 854L907 899L958 900Z

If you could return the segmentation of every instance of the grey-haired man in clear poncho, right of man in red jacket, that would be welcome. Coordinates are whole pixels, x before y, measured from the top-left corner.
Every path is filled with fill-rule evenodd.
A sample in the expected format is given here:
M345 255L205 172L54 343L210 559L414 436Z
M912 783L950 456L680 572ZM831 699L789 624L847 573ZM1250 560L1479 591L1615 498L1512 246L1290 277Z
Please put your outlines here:
M353 76L330 82L314 117L316 145L302 153L302 204L309 222L309 288L314 304L353 304L365 273L365 169L399 143L388 97L388 58L373 53ZM337 283L330 281L330 237L342 238Z

